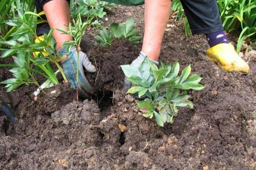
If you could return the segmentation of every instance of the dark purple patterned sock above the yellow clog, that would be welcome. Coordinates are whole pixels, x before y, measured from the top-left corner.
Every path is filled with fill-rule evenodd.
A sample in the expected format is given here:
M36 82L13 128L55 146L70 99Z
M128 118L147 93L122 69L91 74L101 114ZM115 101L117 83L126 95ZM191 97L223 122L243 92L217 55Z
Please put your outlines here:
M208 44L210 47L213 47L214 45L220 44L220 43L229 43L228 38L226 37L224 31L217 31L210 34L205 34Z

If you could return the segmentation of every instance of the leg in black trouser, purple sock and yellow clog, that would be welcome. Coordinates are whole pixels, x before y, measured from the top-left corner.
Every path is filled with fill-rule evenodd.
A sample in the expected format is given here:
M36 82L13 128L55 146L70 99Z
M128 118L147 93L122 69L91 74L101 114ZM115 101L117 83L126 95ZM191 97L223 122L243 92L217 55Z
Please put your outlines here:
M206 34L207 57L225 71L249 73L250 68L228 44L216 0L181 0L192 34Z

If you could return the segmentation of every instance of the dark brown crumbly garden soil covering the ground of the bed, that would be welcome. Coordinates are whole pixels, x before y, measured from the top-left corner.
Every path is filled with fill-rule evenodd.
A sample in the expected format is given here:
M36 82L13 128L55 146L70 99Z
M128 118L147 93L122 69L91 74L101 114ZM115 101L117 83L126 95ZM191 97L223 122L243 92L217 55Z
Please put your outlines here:
M118 7L108 15L109 23L131 15L137 16L136 26L143 30L143 6ZM68 84L46 90L47 96L41 94L38 102L29 97L36 87L22 86L6 94L1 85L1 97L14 108L18 121L12 124L0 113L0 169L255 170L256 51L243 57L250 74L227 73L206 59L203 36L185 37L182 24L172 19L169 24L161 60L174 63L178 59L181 68L191 64L192 73L203 77L204 90L190 92L194 109L183 108L174 124L158 127L153 119L138 114L132 96L118 90L123 79L117 73L118 56L130 62L137 48L124 52L128 43L124 41L117 41L116 49L94 48L96 52L90 54L97 68L116 75L111 82L103 80L108 74L98 75L97 88L105 83L112 91L96 100L101 109L94 100L74 101L75 91ZM88 39L92 36L84 37L84 42L93 40ZM102 59L100 54L105 54ZM11 77L8 69L1 68L0 81Z

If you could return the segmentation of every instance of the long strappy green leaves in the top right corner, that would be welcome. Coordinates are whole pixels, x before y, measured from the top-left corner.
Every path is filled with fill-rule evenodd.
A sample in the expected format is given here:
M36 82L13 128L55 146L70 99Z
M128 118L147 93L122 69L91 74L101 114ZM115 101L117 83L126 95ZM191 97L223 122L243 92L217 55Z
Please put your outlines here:
M237 52L244 40L256 42L256 1L217 0L224 29L227 32L241 31Z

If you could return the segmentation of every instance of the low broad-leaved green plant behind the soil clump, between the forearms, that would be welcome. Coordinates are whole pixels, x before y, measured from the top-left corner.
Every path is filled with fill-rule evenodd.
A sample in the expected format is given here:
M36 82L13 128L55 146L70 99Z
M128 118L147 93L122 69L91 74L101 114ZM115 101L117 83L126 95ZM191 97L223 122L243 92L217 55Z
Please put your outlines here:
M94 38L100 42L103 47L108 47L114 38L124 39L127 38L134 45L137 45L141 36L137 36L138 29L134 29L134 18L128 18L125 23L112 23L110 30L103 28L99 31L99 35Z

